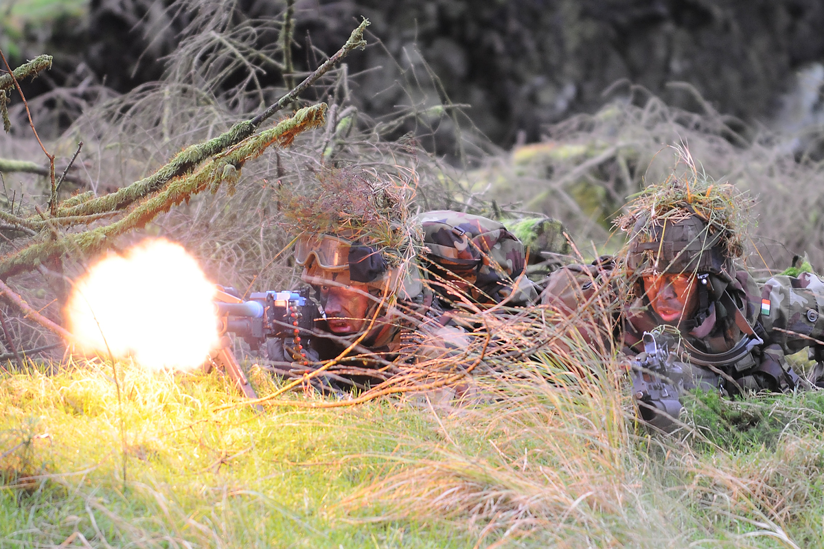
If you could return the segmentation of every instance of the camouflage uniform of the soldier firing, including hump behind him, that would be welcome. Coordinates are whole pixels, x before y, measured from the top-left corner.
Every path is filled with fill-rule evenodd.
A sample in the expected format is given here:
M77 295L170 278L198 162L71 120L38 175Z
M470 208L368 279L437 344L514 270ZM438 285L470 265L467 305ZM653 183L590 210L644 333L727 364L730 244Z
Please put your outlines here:
M324 319L319 319L316 335L302 342L308 361L335 359L358 338L358 345L343 362L353 371L380 368L391 361L450 356L466 348L467 327L449 311L450 300L443 291L447 275L468 283L466 296L478 305L527 305L537 299L536 287L523 277L523 244L503 224L449 211L426 212L419 216L419 222L424 236L419 259L425 268L406 266L405 284L392 292L395 299L372 308L369 318L374 317L373 328L365 335L337 336ZM356 244L353 242L353 246ZM312 279L307 268L302 278L320 296L318 281ZM379 303L381 292L371 293L375 303ZM322 309L325 304L320 305ZM270 341L270 360L289 361L290 356L299 356L292 342Z

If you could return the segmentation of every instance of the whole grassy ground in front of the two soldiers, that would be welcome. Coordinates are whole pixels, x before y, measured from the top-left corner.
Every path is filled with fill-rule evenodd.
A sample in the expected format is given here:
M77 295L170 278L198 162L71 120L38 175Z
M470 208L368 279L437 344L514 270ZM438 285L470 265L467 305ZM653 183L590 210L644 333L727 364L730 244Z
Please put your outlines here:
M824 547L821 393L700 395L664 436L597 366L515 367L262 414L215 374L118 363L122 408L110 365L2 375L0 547Z

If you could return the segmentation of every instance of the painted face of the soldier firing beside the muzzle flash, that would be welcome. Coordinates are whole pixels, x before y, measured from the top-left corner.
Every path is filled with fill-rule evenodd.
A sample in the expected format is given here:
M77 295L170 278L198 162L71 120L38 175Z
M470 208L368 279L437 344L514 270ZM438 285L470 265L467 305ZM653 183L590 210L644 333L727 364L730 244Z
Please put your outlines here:
M369 309L369 288L349 279L349 271L327 275L328 281L318 285L326 324L333 333L357 333L366 323Z

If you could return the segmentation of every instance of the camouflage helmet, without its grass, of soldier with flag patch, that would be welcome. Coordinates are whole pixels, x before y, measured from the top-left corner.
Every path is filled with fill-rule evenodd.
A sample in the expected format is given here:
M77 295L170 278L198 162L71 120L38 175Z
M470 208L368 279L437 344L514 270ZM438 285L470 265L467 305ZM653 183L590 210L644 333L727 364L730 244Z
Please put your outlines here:
M634 223L626 268L643 277L653 272L710 273L724 281L735 276L733 258L714 230L695 212L650 221L644 214Z

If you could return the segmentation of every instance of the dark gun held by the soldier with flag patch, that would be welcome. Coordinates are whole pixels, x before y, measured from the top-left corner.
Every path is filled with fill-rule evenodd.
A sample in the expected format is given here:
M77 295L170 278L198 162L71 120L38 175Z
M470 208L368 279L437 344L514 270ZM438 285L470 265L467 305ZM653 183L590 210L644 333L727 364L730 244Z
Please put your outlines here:
M644 332L644 352L630 361L632 392L641 418L658 429L671 431L681 412L685 372L667 342Z

